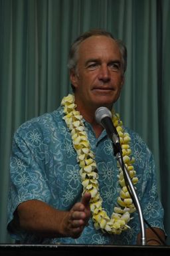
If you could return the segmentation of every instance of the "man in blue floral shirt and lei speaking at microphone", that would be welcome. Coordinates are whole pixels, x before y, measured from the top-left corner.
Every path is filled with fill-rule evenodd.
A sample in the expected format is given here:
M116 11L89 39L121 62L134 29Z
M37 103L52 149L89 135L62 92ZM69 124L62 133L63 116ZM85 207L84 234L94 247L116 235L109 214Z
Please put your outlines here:
M106 31L88 31L72 45L68 67L74 95L15 133L8 230L22 243L140 243L139 219L122 169L95 119L98 107L112 110L120 96L126 47ZM160 245L163 208L152 154L113 111L112 120L143 215L160 237L146 227L147 244Z

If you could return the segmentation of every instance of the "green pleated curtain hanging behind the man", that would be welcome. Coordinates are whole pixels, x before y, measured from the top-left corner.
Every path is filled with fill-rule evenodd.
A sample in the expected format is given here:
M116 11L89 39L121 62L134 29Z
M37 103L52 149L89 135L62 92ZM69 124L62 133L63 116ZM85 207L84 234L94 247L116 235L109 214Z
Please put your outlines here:
M6 230L13 133L71 92L70 45L100 28L128 48L115 109L153 152L170 245L169 27L169 0L0 0L0 243L13 243Z

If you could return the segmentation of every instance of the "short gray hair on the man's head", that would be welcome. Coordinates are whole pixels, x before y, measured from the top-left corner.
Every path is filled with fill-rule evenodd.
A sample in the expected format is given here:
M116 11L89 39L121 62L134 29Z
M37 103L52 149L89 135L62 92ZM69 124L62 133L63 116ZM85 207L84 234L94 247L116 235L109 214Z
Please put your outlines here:
M72 70L72 69L76 70L76 65L78 62L78 50L80 47L80 43L82 43L82 41L84 41L88 37L97 36L97 35L104 35L105 37L110 37L114 41L116 41L116 43L118 43L118 47L119 47L120 53L122 55L123 70L124 70L124 72L126 72L126 67L127 67L126 46L124 45L124 43L121 40L115 39L110 32L102 30L102 29L93 29L93 30L87 31L87 32L83 33L82 35L80 35L74 41L74 43L72 44L72 46L70 48L70 53L68 55L68 65L67 66L68 66L69 70Z

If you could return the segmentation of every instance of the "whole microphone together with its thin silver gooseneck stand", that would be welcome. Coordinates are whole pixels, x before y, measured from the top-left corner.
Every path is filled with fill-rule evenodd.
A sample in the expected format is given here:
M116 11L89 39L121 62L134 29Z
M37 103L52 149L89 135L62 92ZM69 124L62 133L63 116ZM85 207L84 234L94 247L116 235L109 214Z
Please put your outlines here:
M129 177L128 170L126 168L126 165L124 164L124 160L123 160L123 156L122 156L122 148L120 146L120 138L119 138L116 128L114 127L114 124L112 123L112 119L111 119L112 114L111 114L110 110L108 110L108 108L100 107L96 110L95 118L96 118L96 121L106 129L106 132L107 132L109 138L112 140L114 156L116 156L116 159L122 168L122 171L124 174L124 180L126 182L126 187L131 196L131 199L135 205L135 208L137 209L138 214L139 214L139 223L140 223L140 228L141 228L141 245L146 245L146 235L145 235L143 212L141 210L141 205L139 203L137 193L135 192L135 188L133 186L133 183L131 182L131 178Z

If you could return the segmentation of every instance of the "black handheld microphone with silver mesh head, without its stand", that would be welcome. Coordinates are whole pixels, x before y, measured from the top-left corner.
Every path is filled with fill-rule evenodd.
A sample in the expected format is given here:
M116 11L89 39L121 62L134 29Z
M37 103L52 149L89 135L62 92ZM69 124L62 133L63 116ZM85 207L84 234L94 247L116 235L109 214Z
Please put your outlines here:
M100 124L106 129L108 137L112 140L112 142L114 142L115 145L119 146L120 137L112 122L112 113L110 112L110 110L105 106L97 108L95 112L95 119L96 122L98 122L98 124Z

